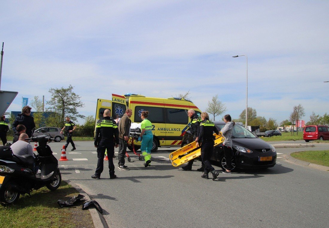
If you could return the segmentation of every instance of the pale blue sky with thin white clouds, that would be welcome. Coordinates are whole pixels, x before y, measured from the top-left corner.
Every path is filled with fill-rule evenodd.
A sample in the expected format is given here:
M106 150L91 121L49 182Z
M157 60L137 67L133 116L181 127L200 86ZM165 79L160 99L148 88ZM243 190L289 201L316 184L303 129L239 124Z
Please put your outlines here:
M201 110L218 94L227 113L248 106L288 119L294 105L329 113L328 1L2 1L1 90L21 97L74 86L83 115L97 98L168 98L190 90ZM225 113L226 114L226 113ZM218 117L218 119L221 117ZM82 120L80 120L83 123Z

